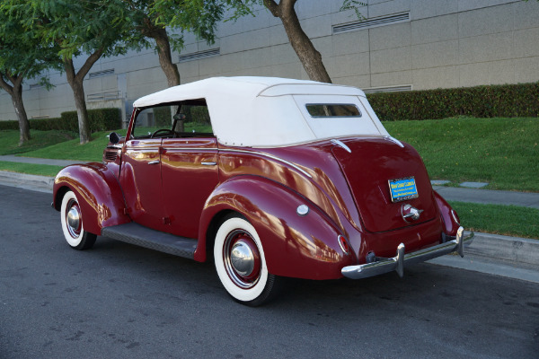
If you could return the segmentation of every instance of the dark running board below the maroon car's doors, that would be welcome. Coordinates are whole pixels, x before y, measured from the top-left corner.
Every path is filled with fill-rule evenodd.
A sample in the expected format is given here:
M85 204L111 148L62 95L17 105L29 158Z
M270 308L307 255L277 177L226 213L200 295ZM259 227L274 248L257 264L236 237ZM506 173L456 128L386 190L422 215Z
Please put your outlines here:
M194 258L198 243L197 240L155 231L134 222L105 227L102 236L190 259Z

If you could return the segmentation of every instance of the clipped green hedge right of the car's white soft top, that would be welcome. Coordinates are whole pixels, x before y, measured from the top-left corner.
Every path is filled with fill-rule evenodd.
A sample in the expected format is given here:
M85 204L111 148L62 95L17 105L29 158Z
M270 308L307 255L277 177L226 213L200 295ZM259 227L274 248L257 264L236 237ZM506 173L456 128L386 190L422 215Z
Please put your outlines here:
M367 95L382 120L537 117L539 83L461 87Z

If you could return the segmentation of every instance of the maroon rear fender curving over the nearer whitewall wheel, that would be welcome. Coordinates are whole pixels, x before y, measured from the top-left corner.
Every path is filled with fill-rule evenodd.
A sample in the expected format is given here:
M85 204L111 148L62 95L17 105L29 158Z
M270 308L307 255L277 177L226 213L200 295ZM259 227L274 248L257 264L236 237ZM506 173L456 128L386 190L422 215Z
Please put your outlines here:
M296 213L300 205L309 206L307 215ZM208 229L219 214L229 211L252 223L271 274L335 279L342 277L342 267L356 262L353 253L341 250L338 236L342 233L320 208L290 188L257 176L227 180L208 198L200 219L195 259L206 259Z

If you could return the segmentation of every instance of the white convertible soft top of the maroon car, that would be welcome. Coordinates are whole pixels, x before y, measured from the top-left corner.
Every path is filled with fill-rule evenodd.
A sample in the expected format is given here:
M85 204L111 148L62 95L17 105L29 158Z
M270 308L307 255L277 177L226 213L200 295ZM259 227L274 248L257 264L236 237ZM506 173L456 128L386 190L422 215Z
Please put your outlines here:
M205 99L221 144L271 147L340 136L388 136L358 88L277 77L213 77L135 101L146 108ZM313 118L306 104L354 104L361 118Z

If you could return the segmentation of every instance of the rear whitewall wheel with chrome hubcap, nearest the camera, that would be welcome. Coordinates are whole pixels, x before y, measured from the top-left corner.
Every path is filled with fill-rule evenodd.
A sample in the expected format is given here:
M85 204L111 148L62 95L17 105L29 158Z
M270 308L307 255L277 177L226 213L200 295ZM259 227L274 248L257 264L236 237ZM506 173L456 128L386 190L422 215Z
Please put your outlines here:
M216 271L235 301L249 306L269 302L282 279L268 273L261 239L251 223L228 215L221 223L214 245Z

